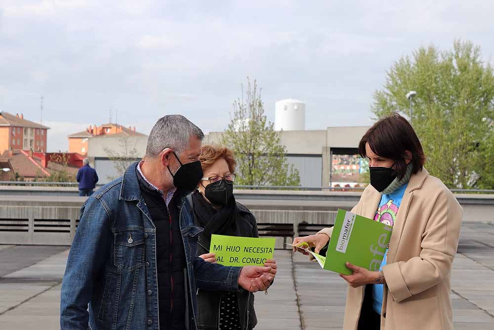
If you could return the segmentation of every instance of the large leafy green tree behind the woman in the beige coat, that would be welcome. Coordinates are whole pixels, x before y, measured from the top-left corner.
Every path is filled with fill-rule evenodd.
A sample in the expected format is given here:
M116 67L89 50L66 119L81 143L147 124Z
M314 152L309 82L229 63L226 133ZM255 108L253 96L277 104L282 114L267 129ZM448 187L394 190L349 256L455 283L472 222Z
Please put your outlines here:
M482 61L480 47L455 41L447 51L421 47L400 58L387 72L384 89L374 93L372 112L377 118L392 112L409 116L405 95L411 90L417 92L412 124L429 172L449 188L492 189L492 167L486 162L494 161L489 149L494 72Z

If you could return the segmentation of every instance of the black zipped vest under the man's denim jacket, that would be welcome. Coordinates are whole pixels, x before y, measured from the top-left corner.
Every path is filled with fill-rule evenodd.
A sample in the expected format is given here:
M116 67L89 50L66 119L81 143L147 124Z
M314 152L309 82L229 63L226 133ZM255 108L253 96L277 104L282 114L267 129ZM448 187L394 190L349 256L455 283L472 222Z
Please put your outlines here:
M138 175L139 179L140 175ZM142 196L156 227L156 263L160 330L184 330L187 294L187 264L176 201L178 191L166 208L162 195L139 180Z

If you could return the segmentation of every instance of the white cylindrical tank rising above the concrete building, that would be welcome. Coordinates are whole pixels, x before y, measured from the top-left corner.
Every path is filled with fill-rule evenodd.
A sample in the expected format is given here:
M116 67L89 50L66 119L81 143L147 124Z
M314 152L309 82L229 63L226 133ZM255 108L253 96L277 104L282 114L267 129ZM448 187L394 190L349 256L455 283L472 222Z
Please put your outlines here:
M293 98L277 101L275 105L275 130L305 130L305 103Z

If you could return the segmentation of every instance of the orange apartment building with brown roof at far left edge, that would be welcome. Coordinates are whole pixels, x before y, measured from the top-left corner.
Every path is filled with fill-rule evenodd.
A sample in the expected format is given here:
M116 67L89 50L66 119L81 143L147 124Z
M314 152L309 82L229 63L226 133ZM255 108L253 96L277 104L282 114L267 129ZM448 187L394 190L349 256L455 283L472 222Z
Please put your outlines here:
M44 152L48 130L49 127L24 119L22 113L0 111L0 154L9 149Z

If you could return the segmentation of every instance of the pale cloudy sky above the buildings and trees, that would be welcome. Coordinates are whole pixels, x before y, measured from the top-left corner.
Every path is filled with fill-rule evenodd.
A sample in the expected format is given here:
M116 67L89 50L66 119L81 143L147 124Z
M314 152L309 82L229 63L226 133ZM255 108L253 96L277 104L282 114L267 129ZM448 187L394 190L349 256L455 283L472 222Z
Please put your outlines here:
M386 70L417 47L471 40L494 64L490 2L0 0L0 110L39 122L43 96L50 150L110 109L145 134L171 113L207 133L249 76L272 121L293 97L307 129L367 125Z

